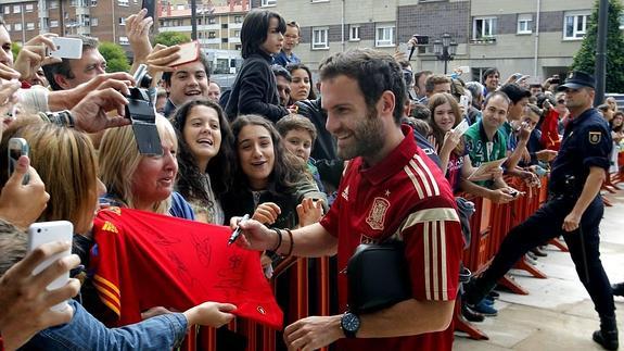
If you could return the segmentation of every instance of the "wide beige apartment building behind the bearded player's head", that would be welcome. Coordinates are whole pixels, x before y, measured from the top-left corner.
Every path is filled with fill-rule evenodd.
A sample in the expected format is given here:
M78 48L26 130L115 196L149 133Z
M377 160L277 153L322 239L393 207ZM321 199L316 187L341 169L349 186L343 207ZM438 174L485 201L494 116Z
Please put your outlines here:
M418 48L413 68L443 73L431 43L448 33L458 43L449 71L469 66L467 79L492 66L502 76L521 72L537 79L566 72L593 7L593 0L252 0L252 8L300 23L295 52L313 68L351 48L404 51L418 34L429 36L430 45Z

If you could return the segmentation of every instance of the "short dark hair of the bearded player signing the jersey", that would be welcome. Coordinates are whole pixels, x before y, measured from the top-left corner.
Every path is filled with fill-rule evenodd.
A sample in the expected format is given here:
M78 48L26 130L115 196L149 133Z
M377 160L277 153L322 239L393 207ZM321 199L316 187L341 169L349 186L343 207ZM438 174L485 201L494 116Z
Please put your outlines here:
M407 88L403 71L396 60L372 49L354 49L324 59L319 67L321 80L345 75L357 80L369 110L390 90L394 93L394 121L400 123Z

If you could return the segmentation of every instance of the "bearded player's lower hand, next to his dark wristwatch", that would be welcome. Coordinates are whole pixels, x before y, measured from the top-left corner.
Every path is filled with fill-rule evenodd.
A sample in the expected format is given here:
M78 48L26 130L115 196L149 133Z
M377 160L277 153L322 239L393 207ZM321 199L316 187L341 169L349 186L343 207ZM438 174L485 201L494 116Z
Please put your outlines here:
M341 315L311 316L300 319L284 329L284 342L289 350L311 351L342 338Z

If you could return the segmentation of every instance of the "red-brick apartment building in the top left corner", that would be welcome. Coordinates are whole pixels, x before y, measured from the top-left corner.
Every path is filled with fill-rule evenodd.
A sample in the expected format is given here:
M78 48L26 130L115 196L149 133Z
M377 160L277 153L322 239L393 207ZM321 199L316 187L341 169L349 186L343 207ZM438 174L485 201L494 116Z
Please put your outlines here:
M125 18L140 9L140 0L2 0L0 14L17 43L41 33L55 33L127 46Z

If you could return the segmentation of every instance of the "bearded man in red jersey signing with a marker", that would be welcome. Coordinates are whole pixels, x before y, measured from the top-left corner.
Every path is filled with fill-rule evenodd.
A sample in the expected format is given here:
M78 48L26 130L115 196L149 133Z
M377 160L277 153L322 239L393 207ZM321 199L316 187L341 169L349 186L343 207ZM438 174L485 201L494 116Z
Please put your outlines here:
M352 160L339 196L320 223L292 235L244 222L239 243L297 256L338 251L343 271L358 245L403 240L412 296L356 315L347 310L347 281L341 274L345 313L300 319L285 328L284 341L293 350L334 341L339 350L451 350L463 239L450 186L418 148L411 129L400 125L407 97L402 70L391 55L364 49L326 59L320 77L327 129L338 139L339 156Z

